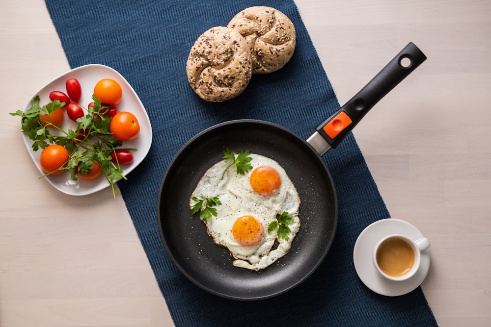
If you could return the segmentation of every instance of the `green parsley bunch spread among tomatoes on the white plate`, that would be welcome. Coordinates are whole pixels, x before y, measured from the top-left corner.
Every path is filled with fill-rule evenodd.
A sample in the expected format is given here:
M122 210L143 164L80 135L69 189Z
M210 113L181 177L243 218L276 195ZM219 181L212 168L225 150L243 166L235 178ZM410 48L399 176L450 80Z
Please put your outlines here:
M126 179L119 164L111 161L110 153L121 147L122 142L112 137L109 125L111 118L105 116L109 106L103 105L101 100L92 96L93 107L84 108L87 114L77 119L78 126L74 130L72 126L64 130L50 122L45 126L41 124L39 114L51 114L65 105L59 100L52 101L44 106L39 105L40 98L35 96L31 101L31 107L25 112L17 110L9 113L12 116L21 117L21 130L32 141L32 150L45 149L50 144L58 144L65 147L69 153L67 164L59 170L67 170L70 178L78 180L76 169L80 174L89 174L92 162L98 162L108 180L113 196L116 197L114 183L119 179ZM52 132L52 131L54 132ZM136 150L136 149L129 149ZM51 173L45 174L48 176Z

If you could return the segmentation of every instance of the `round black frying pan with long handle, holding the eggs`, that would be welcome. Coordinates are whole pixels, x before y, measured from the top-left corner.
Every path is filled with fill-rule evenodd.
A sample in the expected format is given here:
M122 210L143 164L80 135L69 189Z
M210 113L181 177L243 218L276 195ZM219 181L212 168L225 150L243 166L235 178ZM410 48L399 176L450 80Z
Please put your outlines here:
M307 141L286 128L257 120L222 123L193 137L169 164L157 207L162 241L181 272L199 287L236 300L270 298L309 277L326 256L337 225L336 191L321 155L425 59L409 43L353 99L317 126ZM277 161L300 194L301 227L290 252L258 272L234 267L228 250L213 243L206 226L189 208L192 191L206 170L221 160L224 147L247 149Z

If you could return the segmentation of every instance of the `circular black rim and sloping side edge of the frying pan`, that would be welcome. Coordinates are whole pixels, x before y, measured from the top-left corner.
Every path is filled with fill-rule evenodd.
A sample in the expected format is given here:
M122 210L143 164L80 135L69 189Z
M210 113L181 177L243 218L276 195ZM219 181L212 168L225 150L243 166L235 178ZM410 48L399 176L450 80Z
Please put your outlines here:
M303 143L306 147L308 147L310 149L310 151L312 152L312 154L315 154L315 156L317 156L317 160L319 161L319 163L322 164L322 166L324 167L324 170L325 172L323 172L323 176L327 177L328 180L329 180L329 183L332 187L331 189L331 193L332 193L332 198L333 198L333 226L331 228L331 232L330 232L330 237L329 237L329 240L327 242L327 245L325 246L324 248L324 251L322 252L321 255L317 256L317 262L311 266L311 268L304 272L302 274L302 276L300 278L298 278L298 280L294 283L291 283L287 286L284 286L281 290L279 291L275 291L275 292L270 292L268 293L267 295L249 295L249 296L238 296L238 295L233 295L233 294L228 294L228 293L224 293L224 292L219 292L211 287L208 287L206 285L204 285L203 283L199 282L196 278L194 278L193 276L191 276L188 271L186 269L183 268L183 266L179 263L179 260L177 260L177 258L175 257L172 249L169 247L169 245L167 244L167 239L166 239L166 236L164 235L164 228L163 228L163 223L162 223L162 211L161 211L161 208L162 208L162 205L161 205L161 200L162 200L162 196L163 196L163 192L164 192L164 185L165 185L165 181L166 179L168 178L168 174L171 170L171 168L175 165L176 161L179 160L180 156L182 155L183 152L185 152L187 149L189 149L189 146L194 143L197 139L203 137L203 135L209 133L210 131L213 131L217 128L220 128L220 127L224 127L224 126L228 126L228 125L237 125L237 124L255 124L255 125L264 125L264 126L270 126L270 127L273 127L273 128L277 128L277 129L280 129L284 132L286 132L288 135L291 135L292 137L295 137L298 141L300 141L301 143ZM307 151L305 149L305 151ZM332 179L332 176L330 175L330 172L329 170L327 169L327 166L324 162L324 160L322 159L322 157L319 155L319 153L317 151L315 151L315 149L308 143L306 142L305 139L303 139L302 137L300 137L299 135L297 135L295 132L289 130L288 128L286 127L283 127L283 126L280 126L280 125L277 125L277 124L274 124L274 123L271 123L271 122L268 122L268 121L262 121L262 120L255 120L255 119L240 119L240 120L231 120L231 121L226 121L226 122L223 122L223 123L219 123L219 124L216 124L214 126L210 126L204 130L202 130L201 132L199 132L198 134L196 134L195 136L193 136L188 142L186 142L181 148L179 151L176 152L176 154L174 155L174 157L172 158L172 160L169 162L165 172L164 172L164 175L163 175L163 178L162 178L162 181L161 181L161 185L160 185L160 188L159 188L159 194L158 194L158 199L157 199L157 220L158 220L158 226L159 226L159 232L160 232L160 236L161 236L161 241L164 245L164 248L167 252L167 254L169 255L169 257L171 258L171 260L173 261L173 263L176 265L176 267L179 269L179 271L185 276L187 277L192 283L194 283L196 286L200 287L201 289L211 293L211 294L214 294L214 295L217 295L217 296L220 296L220 297L223 297L223 298L227 298L227 299L232 299L232 300L242 300L242 301L255 301L255 300L263 300L263 299L268 299L268 298L272 298L272 297L275 297L277 295L280 295L280 294L283 294L295 287L297 287L298 285L300 285L303 281L305 281L305 279L307 279L308 277L310 277L312 275L312 273L317 270L317 268L319 267L319 265L324 261L326 255L327 255L327 252L329 251L329 249L331 248L331 245L332 245L332 242L334 240L334 236L335 236L335 233L336 233L336 229L337 229L337 223L338 223L338 202L337 202L337 194L336 194L336 189L335 189L335 185L334 185L334 182L333 182L333 179Z

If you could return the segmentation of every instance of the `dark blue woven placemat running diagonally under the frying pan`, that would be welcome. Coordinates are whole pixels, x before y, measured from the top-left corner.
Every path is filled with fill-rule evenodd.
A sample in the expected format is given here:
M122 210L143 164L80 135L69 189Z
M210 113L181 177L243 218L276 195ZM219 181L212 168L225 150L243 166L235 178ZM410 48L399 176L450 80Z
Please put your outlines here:
M129 180L118 185L176 326L436 326L421 288L384 297L356 275L356 238L389 214L351 134L324 156L338 193L338 227L326 259L300 286L261 301L220 298L188 281L165 252L157 224L159 186L170 160L192 136L224 121L260 119L307 138L339 108L292 0L46 4L70 66L100 63L116 69L148 112L151 150ZM254 5L274 7L292 20L297 31L292 60L273 74L254 75L233 100L202 101L185 71L192 44L208 28L227 25L236 13Z

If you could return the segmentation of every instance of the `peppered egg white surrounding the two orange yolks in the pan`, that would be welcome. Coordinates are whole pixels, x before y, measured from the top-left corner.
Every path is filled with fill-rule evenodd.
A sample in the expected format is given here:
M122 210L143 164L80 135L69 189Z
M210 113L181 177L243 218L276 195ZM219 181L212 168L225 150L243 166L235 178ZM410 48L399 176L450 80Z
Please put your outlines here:
M231 166L222 178L222 174L232 159L224 159L210 167L198 182L191 197L218 197L221 205L216 206L217 216L204 220L208 234L216 244L227 248L236 259L233 265L250 270L260 270L268 267L291 248L295 235L300 230L300 196L295 185L285 170L273 159L251 153L252 169L246 175L237 174L235 165ZM259 166L273 167L281 177L281 186L272 196L256 193L249 182L252 171ZM190 199L190 207L194 201ZM290 234L288 241L277 238L277 230L268 232L268 226L277 215L286 211L293 217L294 223L288 225ZM256 218L264 228L263 240L254 246L240 245L232 234L235 221L245 215ZM272 249L275 241L276 249Z

